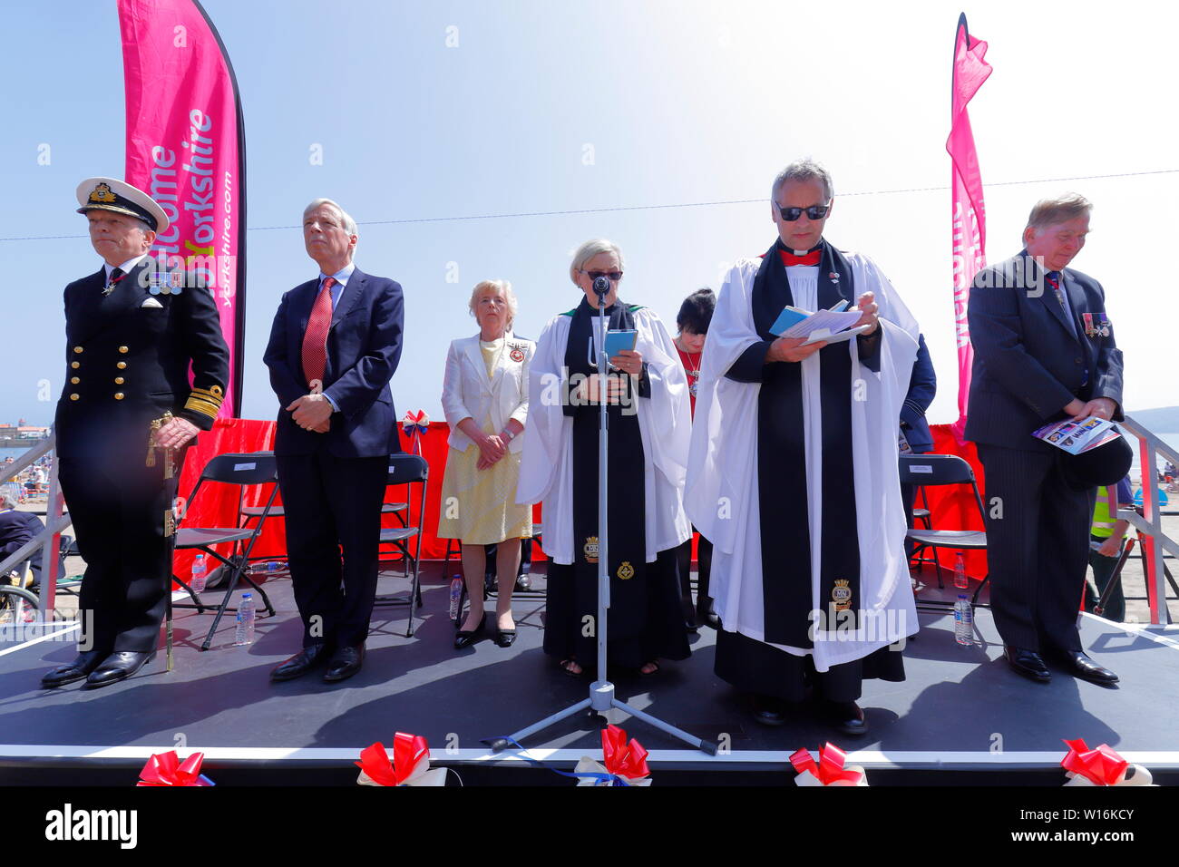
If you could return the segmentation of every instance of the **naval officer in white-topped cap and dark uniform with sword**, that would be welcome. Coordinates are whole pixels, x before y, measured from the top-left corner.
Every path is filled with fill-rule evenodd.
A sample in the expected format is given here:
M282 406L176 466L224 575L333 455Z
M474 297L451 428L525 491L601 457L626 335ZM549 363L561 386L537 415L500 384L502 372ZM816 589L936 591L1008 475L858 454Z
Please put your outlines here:
M154 656L184 449L212 427L229 376L212 293L147 256L167 229L164 210L112 178L84 180L78 203L103 267L65 290L67 370L54 428L86 560L83 633L78 658L45 687L105 687Z

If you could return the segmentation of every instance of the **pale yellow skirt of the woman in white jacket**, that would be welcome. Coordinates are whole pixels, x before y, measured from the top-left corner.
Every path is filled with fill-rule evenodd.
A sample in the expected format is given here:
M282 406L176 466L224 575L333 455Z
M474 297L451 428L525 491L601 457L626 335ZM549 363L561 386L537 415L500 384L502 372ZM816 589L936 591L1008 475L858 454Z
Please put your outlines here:
M532 506L515 501L520 454L508 452L487 469L477 469L479 446L450 448L439 507L440 539L492 545L532 536Z

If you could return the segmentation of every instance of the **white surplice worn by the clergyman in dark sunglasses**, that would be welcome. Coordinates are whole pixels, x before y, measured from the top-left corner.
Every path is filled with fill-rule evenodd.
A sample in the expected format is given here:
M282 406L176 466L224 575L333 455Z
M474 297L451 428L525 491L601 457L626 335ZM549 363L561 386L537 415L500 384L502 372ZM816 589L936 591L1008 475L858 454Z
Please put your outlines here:
M851 460L856 479L855 531L859 541L859 607L869 612L869 617L854 633L844 630L839 635L837 624L824 622L831 632L824 636L816 631L814 649L771 643L771 646L798 656L812 653L818 671L859 659L917 631L903 549L905 518L896 447L901 405L917 352L917 323L871 260L858 254L844 255L851 265L855 296L865 291L876 294L883 331L880 373L859 363L856 340L822 350L851 354ZM696 528L713 544L711 590L724 628L764 642L757 460L762 445L757 436L762 386L725 377L740 354L762 340L752 315L753 278L760 264L758 258L739 261L725 277L717 298L700 362L685 507ZM815 309L817 271L808 267L788 269L796 307ZM803 415L798 425L805 432L806 444L812 609L828 611L829 602L818 598L822 515L818 353L801 363ZM850 544L855 540L852 530L837 527L836 532L845 532ZM806 616L806 612L798 613Z

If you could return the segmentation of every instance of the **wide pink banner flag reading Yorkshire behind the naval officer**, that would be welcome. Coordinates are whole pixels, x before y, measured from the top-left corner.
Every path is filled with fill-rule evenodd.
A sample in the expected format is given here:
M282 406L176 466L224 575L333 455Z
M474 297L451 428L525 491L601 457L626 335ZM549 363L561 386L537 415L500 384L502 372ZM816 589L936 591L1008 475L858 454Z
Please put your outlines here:
M245 139L233 67L196 0L118 0L126 182L167 212L152 256L212 291L230 350L222 418L242 407ZM208 288L202 288L208 287Z

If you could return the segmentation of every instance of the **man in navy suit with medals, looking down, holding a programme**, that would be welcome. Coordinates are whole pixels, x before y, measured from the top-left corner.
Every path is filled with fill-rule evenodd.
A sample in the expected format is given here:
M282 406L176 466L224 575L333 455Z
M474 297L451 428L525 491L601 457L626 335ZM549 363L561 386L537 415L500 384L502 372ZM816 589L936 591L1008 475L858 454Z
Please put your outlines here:
M1085 655L1076 630L1095 490L1069 484L1065 453L1032 436L1068 418L1122 420L1121 350L1105 293L1066 268L1085 245L1091 210L1075 193L1038 203L1025 249L976 275L966 435L986 471L992 610L1008 663L1046 683L1043 653L1109 687L1118 676Z

